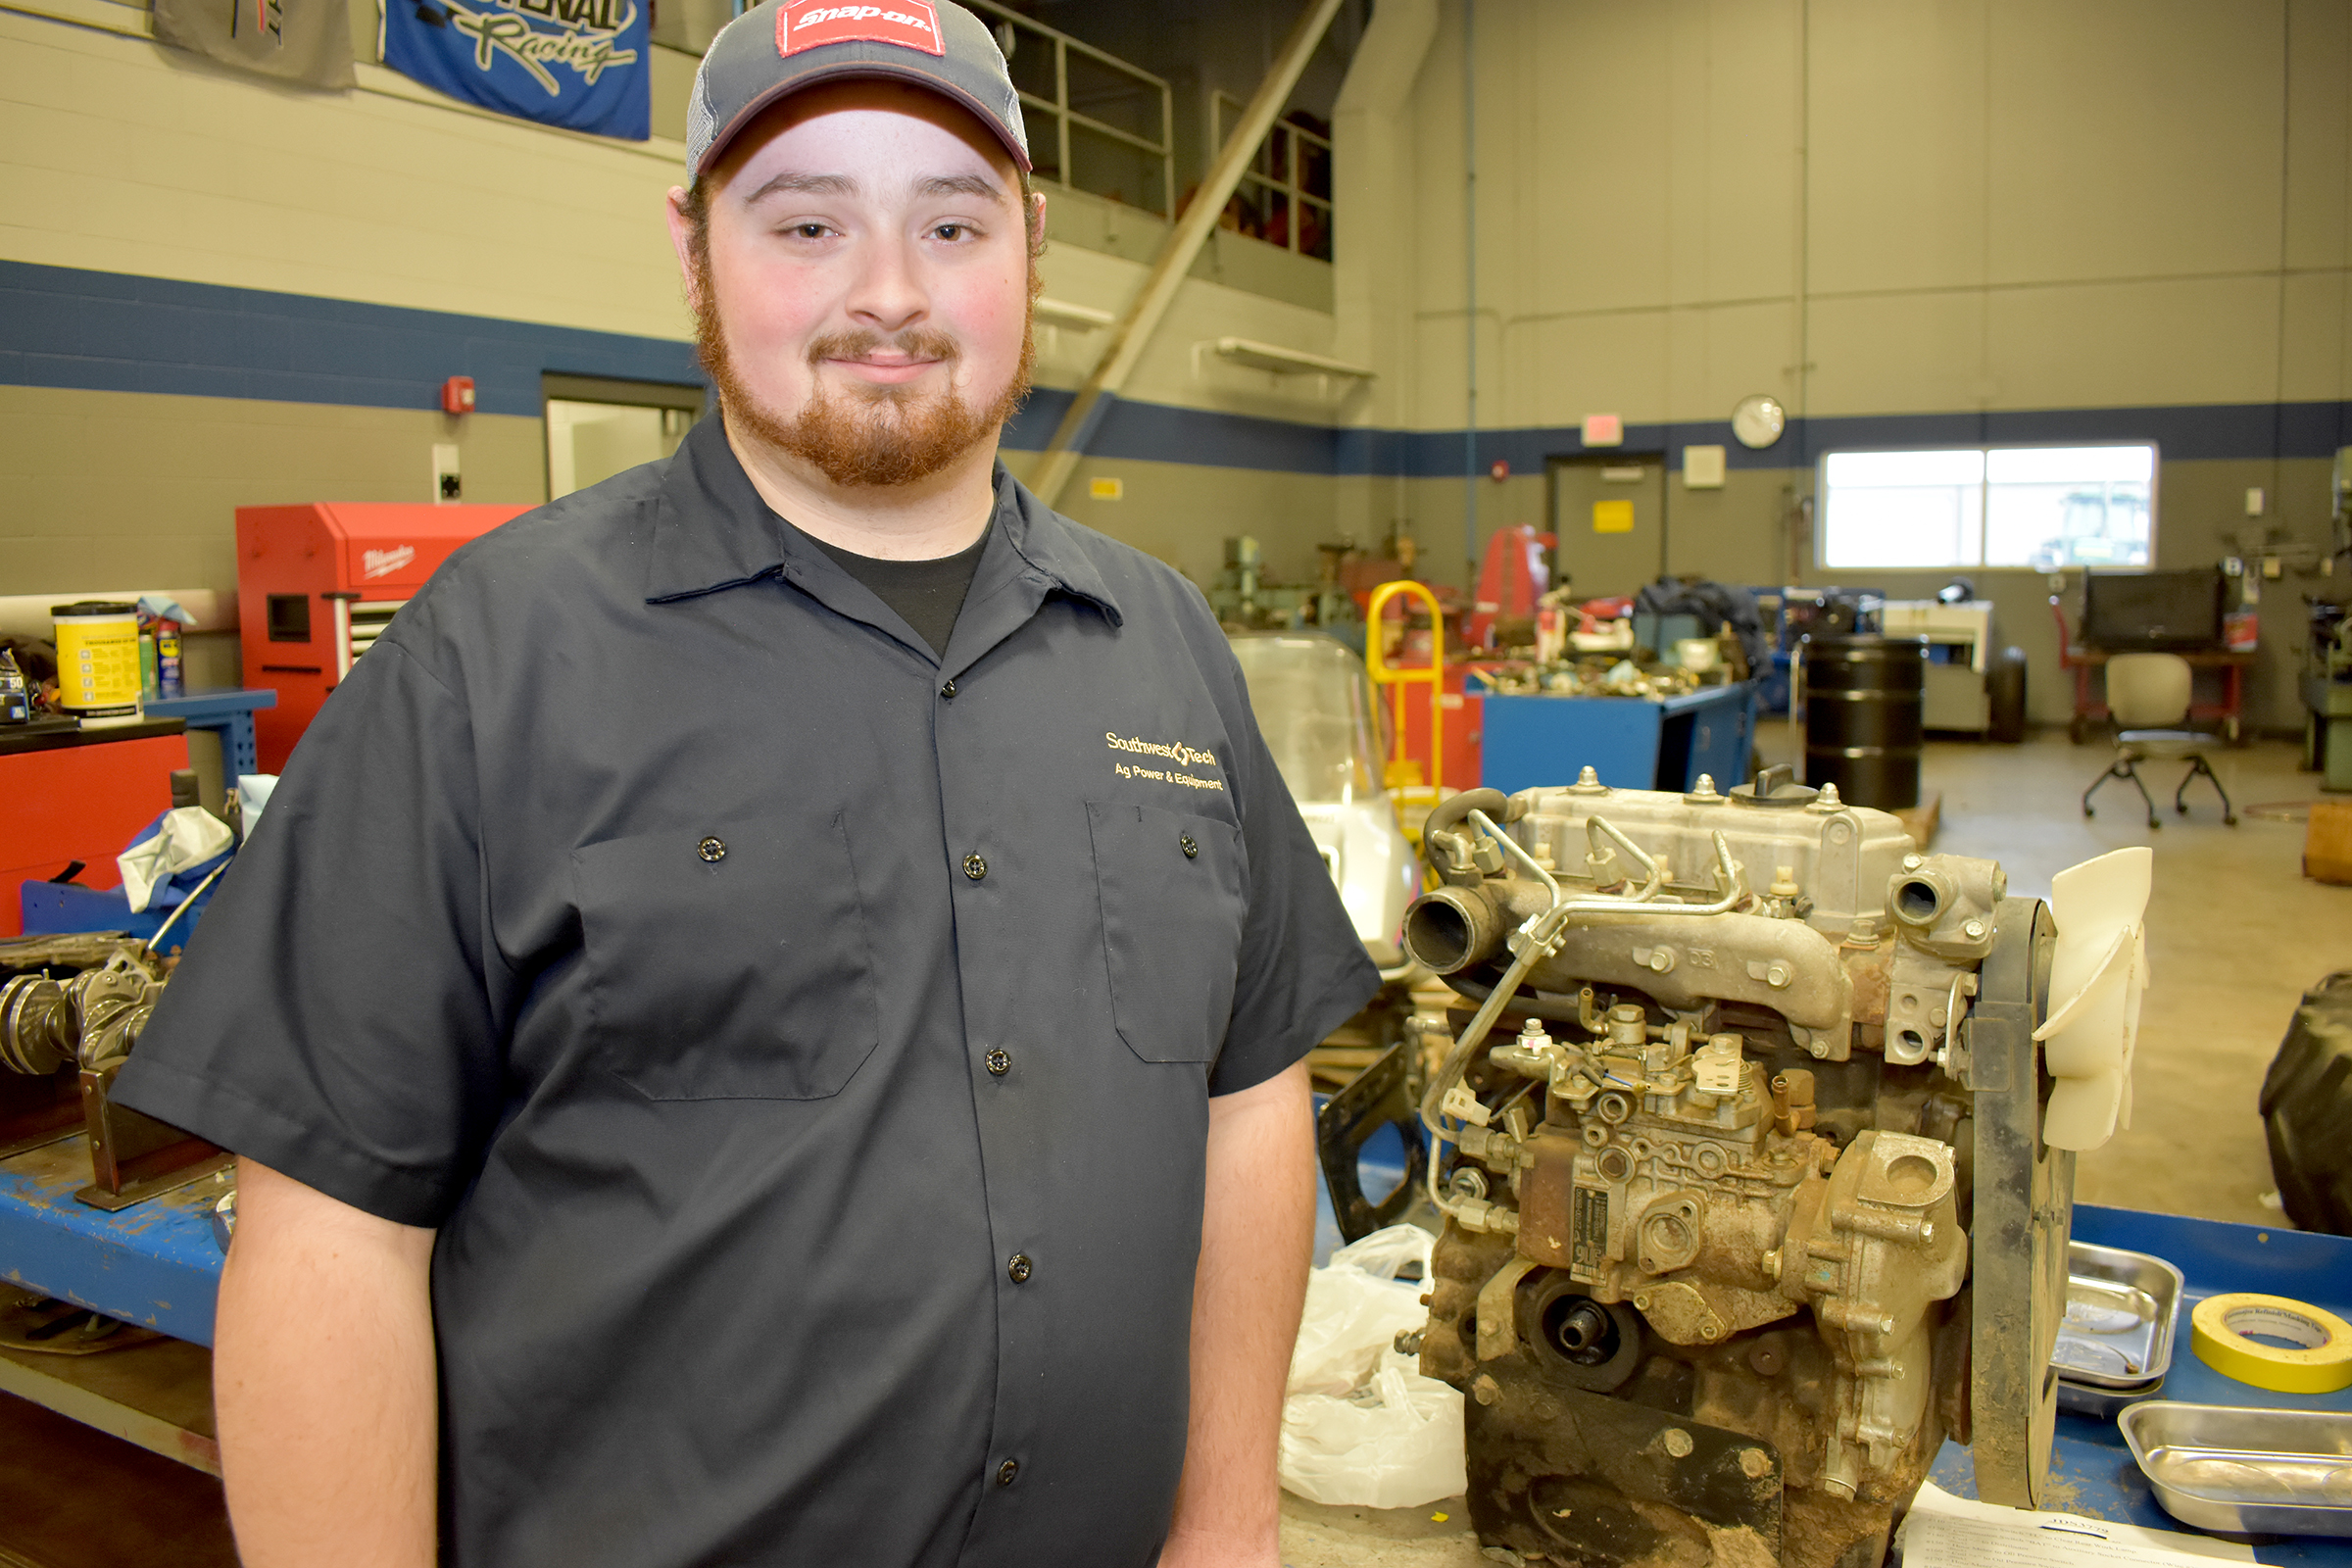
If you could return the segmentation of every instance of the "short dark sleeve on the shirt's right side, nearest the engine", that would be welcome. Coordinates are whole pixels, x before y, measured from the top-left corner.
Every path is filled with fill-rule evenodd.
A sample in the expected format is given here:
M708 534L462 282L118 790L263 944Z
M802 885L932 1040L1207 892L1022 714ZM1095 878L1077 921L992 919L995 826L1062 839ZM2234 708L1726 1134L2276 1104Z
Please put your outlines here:
M1223 649L1223 637L1218 637ZM1282 783L1249 708L1242 670L1225 649L1235 743L1228 778L1249 851L1249 917L1232 990L1232 1023L1209 1074L1209 1093L1228 1095L1275 1077L1381 990L1381 971L1348 919L1298 802Z

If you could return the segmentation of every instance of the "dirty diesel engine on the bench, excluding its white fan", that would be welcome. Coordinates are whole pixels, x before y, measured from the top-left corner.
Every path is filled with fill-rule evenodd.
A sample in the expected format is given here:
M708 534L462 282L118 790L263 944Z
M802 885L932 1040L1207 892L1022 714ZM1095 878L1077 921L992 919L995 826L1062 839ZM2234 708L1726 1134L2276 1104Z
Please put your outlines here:
M1423 849L1404 940L1461 1001L1421 1366L1468 1396L1489 1554L1877 1563L1945 1436L2032 1505L2072 1194L2049 907L1785 771L1472 790Z

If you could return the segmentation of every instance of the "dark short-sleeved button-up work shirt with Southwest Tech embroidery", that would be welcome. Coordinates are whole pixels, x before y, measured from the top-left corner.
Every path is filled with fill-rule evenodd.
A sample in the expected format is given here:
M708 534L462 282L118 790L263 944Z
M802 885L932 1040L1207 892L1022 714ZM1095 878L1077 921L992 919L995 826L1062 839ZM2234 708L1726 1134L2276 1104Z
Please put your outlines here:
M934 658L713 418L400 611L118 1093L440 1227L454 1563L1122 1566L1209 1095L1374 985L1192 585L1000 470Z

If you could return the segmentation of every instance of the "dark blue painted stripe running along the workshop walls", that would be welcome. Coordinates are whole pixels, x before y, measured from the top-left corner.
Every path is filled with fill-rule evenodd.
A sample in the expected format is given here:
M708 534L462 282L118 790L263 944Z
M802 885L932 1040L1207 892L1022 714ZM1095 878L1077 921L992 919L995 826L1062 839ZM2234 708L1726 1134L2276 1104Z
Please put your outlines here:
M440 383L475 378L485 414L539 416L543 371L701 386L694 346L447 310L0 261L0 386L261 397L437 409ZM1040 388L1004 433L1042 451L1070 393ZM1726 421L1625 425L1623 451L1719 444L1731 468L1811 468L1851 447L2157 442L2171 461L2326 458L2352 444L2352 402L1865 414L1790 421L1766 451ZM1482 430L1477 468L1543 473L1588 454L1576 425ZM1089 456L1305 475L1458 477L1461 430L1367 430L1108 400Z

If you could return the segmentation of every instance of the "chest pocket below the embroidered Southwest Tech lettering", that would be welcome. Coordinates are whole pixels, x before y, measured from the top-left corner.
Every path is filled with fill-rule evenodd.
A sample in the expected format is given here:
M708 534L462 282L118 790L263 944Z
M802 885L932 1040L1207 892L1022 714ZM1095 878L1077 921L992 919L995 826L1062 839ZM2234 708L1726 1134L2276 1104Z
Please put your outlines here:
M1160 806L1087 806L1103 898L1110 1011L1148 1063L1209 1063L1225 1044L1242 954L1242 830Z

